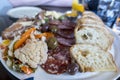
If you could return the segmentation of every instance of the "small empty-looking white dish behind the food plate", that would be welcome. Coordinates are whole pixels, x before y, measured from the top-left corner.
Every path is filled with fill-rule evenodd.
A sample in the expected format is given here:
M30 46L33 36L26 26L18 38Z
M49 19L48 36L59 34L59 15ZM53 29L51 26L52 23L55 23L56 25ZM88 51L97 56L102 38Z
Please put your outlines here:
M13 9L10 9L7 12L7 15L12 18L23 18L23 17L35 17L36 14L38 14L42 9L38 7L16 7Z

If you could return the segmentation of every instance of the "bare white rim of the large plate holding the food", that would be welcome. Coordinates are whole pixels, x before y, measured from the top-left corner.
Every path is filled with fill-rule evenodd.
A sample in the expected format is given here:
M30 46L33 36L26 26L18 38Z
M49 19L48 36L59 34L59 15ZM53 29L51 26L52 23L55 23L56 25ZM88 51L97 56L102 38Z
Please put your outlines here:
M61 74L61 75L52 75L46 73L40 67L36 70L35 73L31 75L26 75L22 73L15 72L7 67L5 61L1 59L3 66L15 77L19 79L26 79L29 77L34 77L34 80L114 80L120 76L120 39L119 37L111 30L110 32L114 35L114 42L112 45L112 49L110 52L113 55L114 61L117 65L118 71L117 72L87 72L87 73L77 73L75 75L69 74Z

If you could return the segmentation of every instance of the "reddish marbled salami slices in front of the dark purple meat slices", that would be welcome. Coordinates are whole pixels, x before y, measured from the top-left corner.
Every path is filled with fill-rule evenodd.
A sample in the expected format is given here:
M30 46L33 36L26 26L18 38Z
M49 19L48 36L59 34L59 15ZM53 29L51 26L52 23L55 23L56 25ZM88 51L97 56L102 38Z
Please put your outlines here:
M42 68L51 74L61 74L67 71L71 62L69 47L59 46L48 52L48 59Z

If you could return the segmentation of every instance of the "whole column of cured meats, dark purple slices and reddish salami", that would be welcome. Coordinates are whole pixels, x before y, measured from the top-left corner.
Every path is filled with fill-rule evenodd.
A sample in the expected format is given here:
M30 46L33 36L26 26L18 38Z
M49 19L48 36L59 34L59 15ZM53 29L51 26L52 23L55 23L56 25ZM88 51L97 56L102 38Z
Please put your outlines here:
M76 24L69 20L51 20L42 28L44 31L49 31L51 26L57 27L57 31L53 33L57 38L58 46L48 51L48 59L42 68L51 74L61 74L66 72L68 65L71 64L70 47L75 43L74 28Z

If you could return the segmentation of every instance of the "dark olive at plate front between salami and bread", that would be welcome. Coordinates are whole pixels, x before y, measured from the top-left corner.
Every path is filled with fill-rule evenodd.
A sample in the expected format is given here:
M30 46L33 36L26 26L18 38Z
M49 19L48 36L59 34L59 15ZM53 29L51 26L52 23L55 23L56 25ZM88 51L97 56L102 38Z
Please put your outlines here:
M79 66L78 64L76 63L71 63L68 65L67 67L67 72L70 74L70 75L74 75L76 72L78 72L79 70Z

